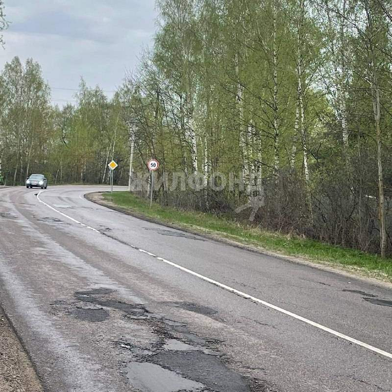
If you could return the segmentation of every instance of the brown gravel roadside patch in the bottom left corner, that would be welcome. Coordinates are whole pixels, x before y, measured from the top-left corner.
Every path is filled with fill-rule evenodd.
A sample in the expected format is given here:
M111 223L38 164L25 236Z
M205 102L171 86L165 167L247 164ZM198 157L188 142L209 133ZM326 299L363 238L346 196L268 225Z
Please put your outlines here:
M43 392L35 370L0 307L0 391Z

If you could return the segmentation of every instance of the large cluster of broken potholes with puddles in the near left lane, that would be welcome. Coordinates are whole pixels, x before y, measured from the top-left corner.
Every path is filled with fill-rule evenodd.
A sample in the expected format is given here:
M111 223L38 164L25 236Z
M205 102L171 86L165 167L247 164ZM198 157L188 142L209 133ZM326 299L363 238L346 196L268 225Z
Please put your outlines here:
M137 329L147 327L153 339L139 340L137 335L111 341L122 351L121 364L128 382L144 392L261 392L267 389L261 381L244 377L228 366L221 357L220 341L209 340L192 333L187 324L156 315L145 306L126 303L105 297L113 290L98 288L74 293L76 299L69 303L68 314L91 322L116 320L110 309L121 312L124 319ZM55 301L56 302L56 301ZM53 302L54 304L54 302ZM59 307L63 301L56 302ZM217 312L209 307L190 302L168 302L168 306L179 307L203 315ZM117 314L118 317L118 314ZM113 321L113 328L116 321ZM111 328L108 326L107 328ZM132 329L130 329L132 330ZM146 331L147 331L146 330Z

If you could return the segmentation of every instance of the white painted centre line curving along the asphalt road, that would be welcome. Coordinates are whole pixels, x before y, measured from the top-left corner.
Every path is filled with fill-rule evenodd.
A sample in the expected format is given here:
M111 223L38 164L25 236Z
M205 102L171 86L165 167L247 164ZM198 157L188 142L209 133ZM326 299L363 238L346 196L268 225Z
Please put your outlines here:
M41 191L41 192L39 192L39 193L37 194L37 199L38 199L41 203L43 203L43 204L45 204L47 207L49 207L51 210L57 212L58 214L64 216L65 218L70 219L71 221L73 221L73 222L75 222L75 223L78 223L78 224L80 224L80 225L82 225L82 226L85 226L85 227L91 229L91 230L94 230L94 231L96 231L97 233L104 234L104 233L100 232L99 230L95 229L94 227L87 226L87 225L85 225L85 224L82 223L82 222L76 221L76 219L71 218L70 216L68 216L68 215L66 215L66 214L64 214L64 213L62 213L61 211L56 210L55 208L53 208L53 207L50 206L49 204L45 203L45 201L42 201L42 200L40 199L39 196L40 196L41 193L43 193L43 192L45 192L45 191ZM335 330L333 330L333 329L331 329L331 328L328 328L328 327L326 327L326 326L324 326L324 325L321 325L321 324L319 324L319 323L317 323L317 322L315 322L315 321L312 321L312 320L306 319L306 318L304 318L304 317L302 317L302 316L296 315L296 314L293 313L293 312L290 312L290 311L288 311L288 310L286 310L286 309L280 308L279 306L273 305L273 304L271 304L271 303L269 303L269 302L263 301L262 299L259 299L259 298L256 298L256 297L252 296L252 295L243 293L242 291L236 290L236 289L234 289L234 288L232 288L232 287L230 287L230 286L226 286L226 285L223 284L223 283L217 282L216 280L210 279L210 278L208 278L207 276L201 275L201 274L199 274L199 273L197 273L197 272L195 272L195 271L193 271L193 270L189 270L189 269L187 269L187 268L185 268L185 267L182 267L182 266L180 266L180 265L178 265L178 264L175 264L175 263L173 263L172 261L166 260L166 259L164 259L164 258L162 258L162 257L158 257L158 256L156 256L156 255L154 255L154 254L148 252L147 250L140 249L139 247L137 247L137 246L135 246L135 245L130 245L130 246L131 246L132 248L134 248L134 249L138 249L140 252L146 253L146 254L148 254L148 255L154 257L155 259L157 259L157 260L159 260L159 261L162 261L163 263L169 264L169 265L172 266L172 267L175 267L175 268L177 268L177 269L179 269L179 270L182 270L182 271L187 272L187 273L189 273L189 274L191 274L191 275L194 275L194 276L198 277L199 279L202 279L202 280L204 280L204 281L206 281L206 282L208 282L208 283L211 283L211 284L213 284L213 285L215 285L215 286L217 286L217 287L219 287L219 288L221 288L221 289L223 289L223 290L226 290L226 291L228 291L228 292L230 292L230 293L233 293L233 294L237 294L237 295L239 295L239 296L241 296L241 297L243 297L243 298L245 298L245 299L250 299L250 300L253 301L253 302L260 303L260 304L262 304L262 305L264 305L264 306L267 306L267 307L269 307L269 308L271 308L271 309L274 309L274 310L276 310L276 311L278 311L278 312L280 312L280 313L283 313L283 314L285 314L285 315L287 315L287 316L290 316L290 317L292 317L293 319L297 319L297 320L303 321L303 322L305 322L306 324L309 324L309 325L312 325L313 327L319 328L319 329L321 329L321 330L323 330L323 331L325 331L325 332L328 332L328 333L331 334L331 335L334 335L334 336L337 336L338 338L344 339L344 340L346 340L347 342L357 344L357 345L359 345L359 346L361 346L361 347L367 348L367 349L370 350L370 351L373 351L373 352L375 352L375 353L377 353L377 354L380 354L380 355L383 355L383 356L385 356L385 357L387 357L387 358L391 358L391 359L392 359L392 353L389 353L389 352L387 352L387 351L381 350L380 348L374 347L374 346L372 346L372 345L370 345L370 344L368 344L368 343L361 342L360 340L351 338L350 336L344 335L344 334L342 334L342 333L340 333L340 332L338 332L338 331L335 331Z

